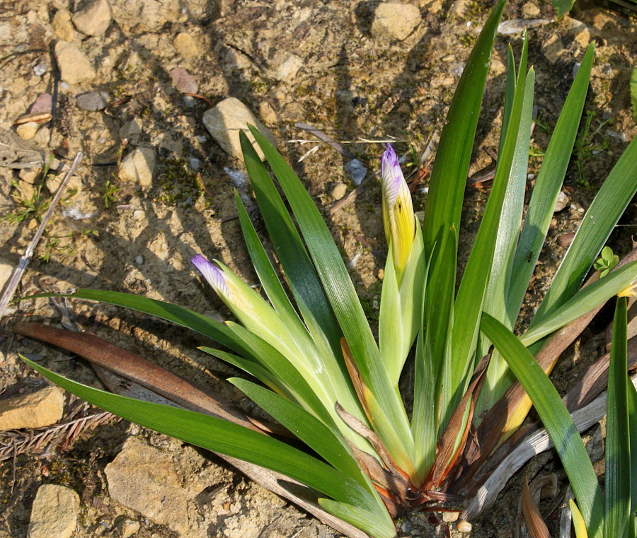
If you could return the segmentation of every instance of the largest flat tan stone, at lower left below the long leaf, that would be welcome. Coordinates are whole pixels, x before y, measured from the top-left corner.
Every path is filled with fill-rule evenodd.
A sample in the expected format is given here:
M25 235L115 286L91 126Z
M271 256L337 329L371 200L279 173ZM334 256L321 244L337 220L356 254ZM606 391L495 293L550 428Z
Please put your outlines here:
M108 493L114 501L188 536L188 491L183 488L170 455L136 437L105 468Z

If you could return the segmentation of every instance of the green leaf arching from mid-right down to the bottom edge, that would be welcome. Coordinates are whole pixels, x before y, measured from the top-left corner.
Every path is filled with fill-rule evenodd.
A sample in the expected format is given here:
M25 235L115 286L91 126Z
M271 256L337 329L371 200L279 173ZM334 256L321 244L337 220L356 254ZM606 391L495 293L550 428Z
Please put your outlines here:
M488 314L483 314L480 328L500 351L532 399L566 469L589 535L591 538L601 538L604 497L582 438L560 395L544 370L536 363L534 356L510 329Z

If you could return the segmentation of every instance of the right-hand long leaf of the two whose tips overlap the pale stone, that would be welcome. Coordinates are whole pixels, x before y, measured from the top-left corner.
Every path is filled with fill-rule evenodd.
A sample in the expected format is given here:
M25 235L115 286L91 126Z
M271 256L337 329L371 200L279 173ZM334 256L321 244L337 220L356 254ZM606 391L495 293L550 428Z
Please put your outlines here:
M374 429L401 469L414 474L413 439L399 394L381 361L380 352L338 247L309 193L274 146L254 127L258 145L277 176L319 274L340 328L363 380L372 392Z

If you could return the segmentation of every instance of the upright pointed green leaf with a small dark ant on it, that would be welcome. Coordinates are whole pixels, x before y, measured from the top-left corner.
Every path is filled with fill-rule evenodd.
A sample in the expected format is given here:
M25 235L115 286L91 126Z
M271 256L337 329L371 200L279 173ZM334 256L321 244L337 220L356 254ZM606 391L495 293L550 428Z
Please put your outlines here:
M537 175L529 201L527 217L524 220L524 228L522 228L515 252L507 292L507 315L511 324L515 324L515 320L517 320L524 295L527 293L531 276L544 245L546 232L549 230L549 224L553 218L553 209L555 209L570 161L570 154L573 152L575 138L578 135L594 58L595 47L591 45L582 60L573 86L568 92L566 103L564 103L549 147L546 149L546 156L544 156L544 161Z

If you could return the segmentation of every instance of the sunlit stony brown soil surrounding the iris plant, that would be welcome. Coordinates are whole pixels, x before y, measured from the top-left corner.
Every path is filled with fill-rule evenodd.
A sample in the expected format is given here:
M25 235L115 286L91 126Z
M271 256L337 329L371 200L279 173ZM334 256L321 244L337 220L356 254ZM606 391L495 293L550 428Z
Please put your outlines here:
M378 167L381 145L362 139L392 137L399 153L413 146L418 156L430 143L435 147L490 4L411 0L396 16L395 8L367 0L0 1L0 128L16 132L18 142L45 148L62 168L84 153L18 294L103 288L229 317L189 259L203 253L250 283L256 279L235 218L234 189L249 208L253 204L236 141L228 135L229 127L249 119L270 129L325 212L373 319L383 266L378 252L384 250L377 183L353 203L327 210L365 177L362 168L369 176ZM506 46L519 52L520 21L536 20L529 52L537 73L536 156L529 185L573 70L594 40L589 127L578 138L563 207L541 256L538 293L541 277L563 255L560 238L577 226L636 134L629 108L634 13L612 2L580 1L572 18L555 22L549 4L512 0L506 8L505 19L518 22L497 41L471 165L474 177L493 169ZM351 154L322 144L306 155L318 141L295 122L353 142L344 144ZM0 160L0 288L62 178L16 168L17 161ZM426 196L426 173L420 175L417 206ZM467 190L469 230L476 228L487 191ZM634 216L631 207L625 222L634 223ZM258 223L258 214L253 217ZM626 250L628 237L624 232L612 245ZM83 329L241 401L224 384L236 372L197 351L202 341L192 334L105 305L71 301L69 308ZM58 324L60 316L52 303L28 300L1 320L1 538L335 536L207 452L45 388L18 351L98 385L85 363L12 336L19 320ZM583 356L599 352L603 339L587 336L558 368L561 388L588 360ZM89 417L83 428L74 422L74 429L51 429L83 416ZM533 465L534 472L551 470L553 460L547 455ZM476 522L474 536L517 535L519 488L518 479L490 517ZM415 515L403 531L428 536L435 531L427 525L427 517Z

